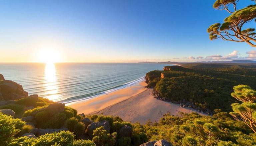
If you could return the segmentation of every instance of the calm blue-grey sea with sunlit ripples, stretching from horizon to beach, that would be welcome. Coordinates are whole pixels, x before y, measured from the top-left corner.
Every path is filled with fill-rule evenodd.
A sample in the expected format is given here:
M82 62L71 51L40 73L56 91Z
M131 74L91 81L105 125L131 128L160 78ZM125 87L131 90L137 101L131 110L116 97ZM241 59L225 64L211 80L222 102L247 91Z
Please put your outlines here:
M30 94L63 103L112 92L144 79L166 64L143 63L23 63L0 64L5 79L21 84ZM168 65L170 66L170 65Z

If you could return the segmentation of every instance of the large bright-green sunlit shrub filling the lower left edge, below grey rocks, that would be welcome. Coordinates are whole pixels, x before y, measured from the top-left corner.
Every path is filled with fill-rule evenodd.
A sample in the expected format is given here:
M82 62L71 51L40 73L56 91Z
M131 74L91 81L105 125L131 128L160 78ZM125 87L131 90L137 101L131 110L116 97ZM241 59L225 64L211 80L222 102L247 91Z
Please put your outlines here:
M9 115L0 112L0 143L3 146L8 145L14 136L18 134L25 125L24 121L14 119Z

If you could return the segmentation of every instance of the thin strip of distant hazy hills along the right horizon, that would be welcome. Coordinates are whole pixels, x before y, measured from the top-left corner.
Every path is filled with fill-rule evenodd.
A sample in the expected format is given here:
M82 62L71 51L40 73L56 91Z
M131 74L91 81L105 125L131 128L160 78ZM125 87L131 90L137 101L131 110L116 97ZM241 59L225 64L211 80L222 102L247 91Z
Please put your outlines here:
M156 63L156 64L176 64L176 65L183 65L188 63L234 63L234 64L251 64L256 63L253 60L232 60L232 61L202 61L202 62L140 62L140 63Z

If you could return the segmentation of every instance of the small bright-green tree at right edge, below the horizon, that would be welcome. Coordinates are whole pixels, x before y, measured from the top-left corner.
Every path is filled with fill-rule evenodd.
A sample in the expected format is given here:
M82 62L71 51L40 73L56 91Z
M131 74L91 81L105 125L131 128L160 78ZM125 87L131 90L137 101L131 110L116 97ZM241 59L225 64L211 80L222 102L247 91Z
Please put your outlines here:
M243 121L256 133L256 91L247 85L234 86L231 96L241 101L242 104L232 103L233 112L230 114Z

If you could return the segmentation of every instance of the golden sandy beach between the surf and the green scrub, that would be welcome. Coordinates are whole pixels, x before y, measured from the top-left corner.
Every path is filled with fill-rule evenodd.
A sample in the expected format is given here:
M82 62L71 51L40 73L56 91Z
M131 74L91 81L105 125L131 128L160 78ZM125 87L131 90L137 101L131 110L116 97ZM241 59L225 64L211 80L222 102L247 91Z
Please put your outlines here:
M148 119L151 122L158 122L167 112L175 116L179 116L179 112L196 112L194 109L182 108L179 104L154 98L152 89L144 88L145 85L145 82L141 82L111 92L109 95L101 95L69 106L85 115L113 115L119 116L124 121L141 124L145 124Z

